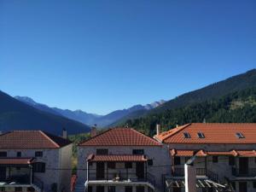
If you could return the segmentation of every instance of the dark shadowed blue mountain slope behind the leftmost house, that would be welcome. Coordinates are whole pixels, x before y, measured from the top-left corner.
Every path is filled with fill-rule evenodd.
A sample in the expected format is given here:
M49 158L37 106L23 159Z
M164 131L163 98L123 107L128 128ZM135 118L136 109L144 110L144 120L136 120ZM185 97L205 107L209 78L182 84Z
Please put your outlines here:
M43 130L55 135L61 135L63 128L68 134L90 131L87 125L67 119L53 111L49 112L45 106L41 107L44 110L33 108L32 104L27 105L0 91L0 131Z

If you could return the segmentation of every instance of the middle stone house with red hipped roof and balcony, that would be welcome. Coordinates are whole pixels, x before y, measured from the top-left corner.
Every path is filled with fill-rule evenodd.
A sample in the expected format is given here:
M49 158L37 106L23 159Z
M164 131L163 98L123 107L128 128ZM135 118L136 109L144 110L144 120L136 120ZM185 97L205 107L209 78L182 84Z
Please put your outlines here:
M162 191L168 150L131 128L113 128L79 144L78 186L88 192Z

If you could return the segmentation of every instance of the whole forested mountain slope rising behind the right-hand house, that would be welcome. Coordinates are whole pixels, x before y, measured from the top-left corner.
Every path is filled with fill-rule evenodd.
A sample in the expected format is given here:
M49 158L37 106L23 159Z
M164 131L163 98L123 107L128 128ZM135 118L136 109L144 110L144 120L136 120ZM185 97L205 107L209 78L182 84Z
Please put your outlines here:
M154 135L155 125L203 122L256 122L256 69L177 96L146 113L130 113L113 126L129 125Z

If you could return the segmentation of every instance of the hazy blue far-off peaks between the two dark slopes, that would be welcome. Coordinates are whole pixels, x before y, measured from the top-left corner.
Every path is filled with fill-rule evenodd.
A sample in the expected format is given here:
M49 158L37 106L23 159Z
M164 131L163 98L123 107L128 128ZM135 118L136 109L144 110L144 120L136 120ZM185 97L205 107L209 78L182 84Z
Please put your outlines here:
M26 104L32 106L33 108L37 108L39 110L43 110L47 113L53 113L55 115L61 115L68 119L73 119L83 123L84 125L97 125L98 127L107 127L108 125L113 124L119 119L124 118L125 116L129 116L130 113L135 113L137 111L148 111L153 108L159 107L161 104L165 103L164 100L159 102L152 102L147 105L135 105L131 108L116 110L112 113L108 113L107 115L98 115L94 113L86 113L82 110L69 110L69 109L61 109L61 108L50 108L49 106L35 102L32 98L27 96L15 96L15 99L20 102L25 102Z

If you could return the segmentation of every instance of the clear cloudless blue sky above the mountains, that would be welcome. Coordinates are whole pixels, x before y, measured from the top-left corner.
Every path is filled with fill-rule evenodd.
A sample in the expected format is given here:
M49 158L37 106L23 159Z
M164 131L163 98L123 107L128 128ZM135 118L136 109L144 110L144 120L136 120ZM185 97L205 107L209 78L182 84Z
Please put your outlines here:
M3 0L0 90L108 113L256 67L256 1Z

